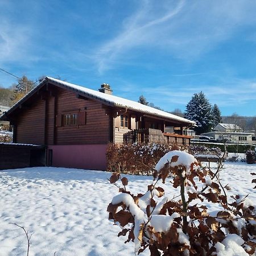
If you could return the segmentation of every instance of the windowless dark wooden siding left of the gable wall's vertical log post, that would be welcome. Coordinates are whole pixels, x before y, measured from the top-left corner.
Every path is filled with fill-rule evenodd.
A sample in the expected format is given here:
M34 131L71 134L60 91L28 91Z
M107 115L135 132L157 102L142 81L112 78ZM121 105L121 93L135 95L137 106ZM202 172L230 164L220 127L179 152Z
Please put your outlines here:
M22 109L16 126L16 143L44 144L46 102L38 99L30 108Z

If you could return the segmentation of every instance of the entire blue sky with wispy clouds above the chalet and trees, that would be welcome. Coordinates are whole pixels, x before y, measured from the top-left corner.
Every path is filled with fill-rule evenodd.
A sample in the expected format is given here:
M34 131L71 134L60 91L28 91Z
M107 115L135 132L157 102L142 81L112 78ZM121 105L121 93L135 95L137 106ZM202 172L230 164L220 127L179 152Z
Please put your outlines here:
M203 91L256 115L255 1L0 0L0 68L60 76L172 111ZM13 77L0 72L0 85Z

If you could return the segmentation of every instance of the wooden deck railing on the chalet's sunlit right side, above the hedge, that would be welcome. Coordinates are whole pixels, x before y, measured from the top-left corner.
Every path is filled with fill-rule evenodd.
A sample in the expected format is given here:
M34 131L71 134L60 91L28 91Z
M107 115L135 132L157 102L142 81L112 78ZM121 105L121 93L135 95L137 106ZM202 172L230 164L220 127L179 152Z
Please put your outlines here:
M191 136L174 133L163 133L158 129L134 129L123 134L125 143L176 143L178 145L189 145Z

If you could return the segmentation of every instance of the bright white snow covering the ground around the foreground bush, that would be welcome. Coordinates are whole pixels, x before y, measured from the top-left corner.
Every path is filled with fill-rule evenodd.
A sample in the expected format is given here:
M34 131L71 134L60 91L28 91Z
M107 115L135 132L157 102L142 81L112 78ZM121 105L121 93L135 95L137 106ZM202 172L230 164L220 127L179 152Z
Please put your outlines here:
M230 193L249 193L255 202L250 172L256 172L256 164L225 163L222 184L233 188ZM106 208L118 193L107 180L110 175L52 167L0 171L0 255L26 254L23 230L9 222L34 232L30 255L134 255L133 243L124 244L125 237L117 237L119 227L108 220ZM134 193L146 192L152 180L126 176ZM177 195L168 182L162 187Z

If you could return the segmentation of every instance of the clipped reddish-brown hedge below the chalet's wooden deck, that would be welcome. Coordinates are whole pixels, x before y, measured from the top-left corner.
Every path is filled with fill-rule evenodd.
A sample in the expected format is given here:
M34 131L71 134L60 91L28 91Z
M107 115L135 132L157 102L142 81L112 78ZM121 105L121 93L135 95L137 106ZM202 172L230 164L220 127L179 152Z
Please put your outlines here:
M187 147L180 148L171 143L119 145L110 143L106 153L107 170L121 171L125 174L152 175L153 167L171 149L187 150Z

